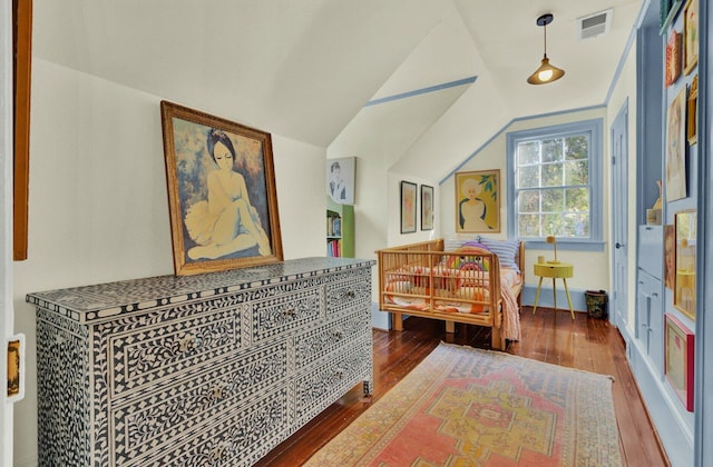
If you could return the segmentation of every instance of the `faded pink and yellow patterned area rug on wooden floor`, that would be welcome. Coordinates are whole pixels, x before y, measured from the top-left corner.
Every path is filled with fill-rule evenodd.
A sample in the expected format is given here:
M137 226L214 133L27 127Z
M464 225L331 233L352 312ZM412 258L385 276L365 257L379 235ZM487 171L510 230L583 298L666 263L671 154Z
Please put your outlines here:
M439 345L307 466L621 466L612 378Z

